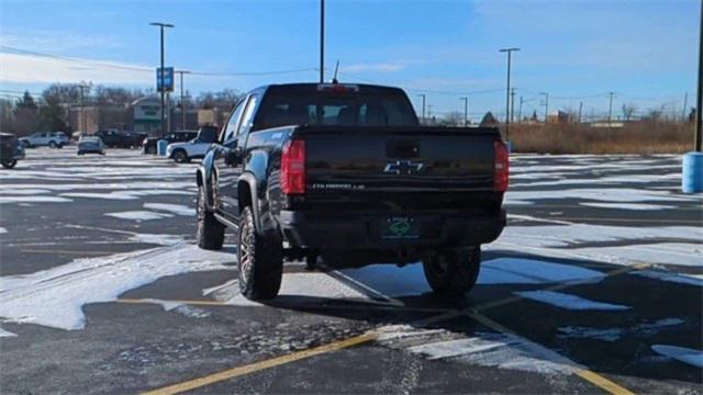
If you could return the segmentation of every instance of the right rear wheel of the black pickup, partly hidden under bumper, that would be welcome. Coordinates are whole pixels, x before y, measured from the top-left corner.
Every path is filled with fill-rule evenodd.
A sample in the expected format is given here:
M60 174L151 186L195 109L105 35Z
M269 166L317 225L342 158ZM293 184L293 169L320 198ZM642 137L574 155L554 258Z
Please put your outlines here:
M481 266L480 247L438 251L422 261L427 283L443 297L461 297L476 285Z

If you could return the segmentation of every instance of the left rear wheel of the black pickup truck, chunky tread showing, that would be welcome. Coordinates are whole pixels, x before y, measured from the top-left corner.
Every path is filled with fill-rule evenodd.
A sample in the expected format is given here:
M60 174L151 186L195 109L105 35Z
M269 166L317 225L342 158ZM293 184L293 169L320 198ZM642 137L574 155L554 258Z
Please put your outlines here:
M244 208L239 222L237 260L239 291L246 298L270 300L278 295L283 276L282 242L256 232L250 206Z

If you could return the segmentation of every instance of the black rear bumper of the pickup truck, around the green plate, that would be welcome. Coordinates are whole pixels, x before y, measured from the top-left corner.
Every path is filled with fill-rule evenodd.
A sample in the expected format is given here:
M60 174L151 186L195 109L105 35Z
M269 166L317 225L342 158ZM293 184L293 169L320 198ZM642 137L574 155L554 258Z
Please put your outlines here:
M479 246L495 240L505 227L504 210L491 215L423 213L411 215L421 225L419 238L388 239L381 237L380 224L390 216L388 213L368 213L311 217L304 212L281 211L278 219L288 242L313 249L402 250Z

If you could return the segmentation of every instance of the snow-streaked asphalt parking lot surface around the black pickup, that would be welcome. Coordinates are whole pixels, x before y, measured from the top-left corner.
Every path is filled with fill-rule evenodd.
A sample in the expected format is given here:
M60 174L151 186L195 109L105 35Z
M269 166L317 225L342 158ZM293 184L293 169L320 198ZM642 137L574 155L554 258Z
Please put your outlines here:
M462 301L422 268L238 294L194 163L31 149L0 172L0 393L702 393L702 196L676 156L516 155Z

